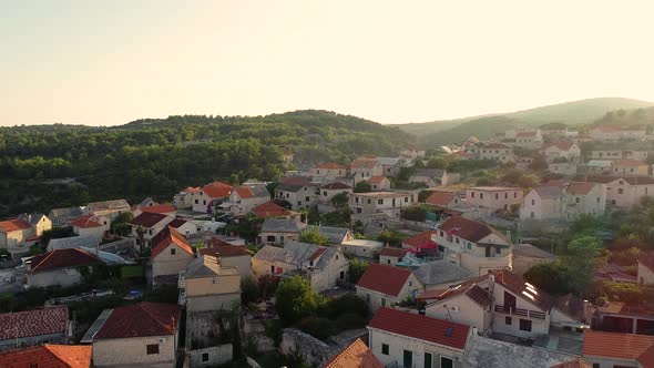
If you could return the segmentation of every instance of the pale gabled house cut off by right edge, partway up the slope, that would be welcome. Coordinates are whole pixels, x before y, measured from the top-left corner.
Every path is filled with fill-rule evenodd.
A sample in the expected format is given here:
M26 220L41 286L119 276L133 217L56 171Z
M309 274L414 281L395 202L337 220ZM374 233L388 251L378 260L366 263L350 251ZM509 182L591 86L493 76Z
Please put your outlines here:
M606 186L606 205L631 208L644 197L654 196L654 178L651 176L590 176L589 182Z

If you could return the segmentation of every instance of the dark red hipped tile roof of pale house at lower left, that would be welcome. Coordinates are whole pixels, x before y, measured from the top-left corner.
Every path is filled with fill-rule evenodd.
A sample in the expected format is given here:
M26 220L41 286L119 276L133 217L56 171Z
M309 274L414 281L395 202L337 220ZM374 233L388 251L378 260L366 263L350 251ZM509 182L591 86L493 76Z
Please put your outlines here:
M117 307L93 339L173 335L180 314L176 304L142 301Z

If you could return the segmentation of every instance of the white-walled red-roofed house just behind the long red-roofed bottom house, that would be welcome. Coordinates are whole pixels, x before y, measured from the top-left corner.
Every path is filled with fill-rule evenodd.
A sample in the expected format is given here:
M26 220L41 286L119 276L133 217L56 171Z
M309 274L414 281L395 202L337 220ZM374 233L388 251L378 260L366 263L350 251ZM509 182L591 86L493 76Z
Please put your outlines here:
M371 263L356 288L357 295L375 311L408 297L416 297L422 290L422 285L409 269Z

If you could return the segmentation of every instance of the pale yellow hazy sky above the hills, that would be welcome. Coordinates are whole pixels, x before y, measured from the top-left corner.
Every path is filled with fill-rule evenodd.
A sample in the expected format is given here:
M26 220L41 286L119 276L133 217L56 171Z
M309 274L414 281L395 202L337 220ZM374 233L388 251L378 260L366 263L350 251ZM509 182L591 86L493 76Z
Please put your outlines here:
M0 124L654 101L654 1L3 1Z

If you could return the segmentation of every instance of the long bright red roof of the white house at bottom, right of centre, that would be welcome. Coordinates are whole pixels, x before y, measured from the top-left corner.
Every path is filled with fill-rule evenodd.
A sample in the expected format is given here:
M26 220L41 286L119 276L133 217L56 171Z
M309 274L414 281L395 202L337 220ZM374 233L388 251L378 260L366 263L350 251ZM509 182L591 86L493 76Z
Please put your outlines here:
M470 326L386 307L377 310L375 317L368 324L368 328L376 328L460 350L466 348L470 333Z

